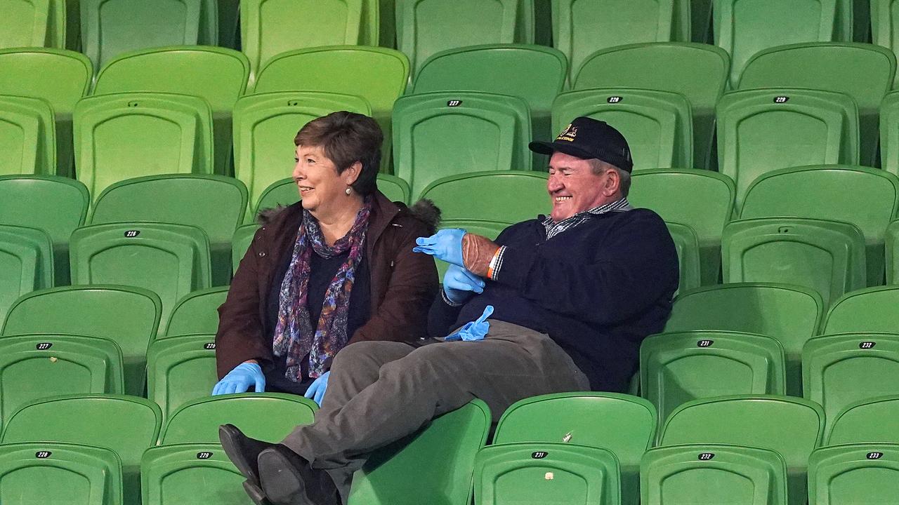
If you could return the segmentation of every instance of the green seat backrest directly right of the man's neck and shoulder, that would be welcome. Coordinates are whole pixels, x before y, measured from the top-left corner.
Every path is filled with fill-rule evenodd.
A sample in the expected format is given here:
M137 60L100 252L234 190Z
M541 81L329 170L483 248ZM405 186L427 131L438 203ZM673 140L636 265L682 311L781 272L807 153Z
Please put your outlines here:
M628 201L668 222L690 226L699 238L701 282L717 284L721 234L734 214L734 181L708 170L643 170L632 175Z

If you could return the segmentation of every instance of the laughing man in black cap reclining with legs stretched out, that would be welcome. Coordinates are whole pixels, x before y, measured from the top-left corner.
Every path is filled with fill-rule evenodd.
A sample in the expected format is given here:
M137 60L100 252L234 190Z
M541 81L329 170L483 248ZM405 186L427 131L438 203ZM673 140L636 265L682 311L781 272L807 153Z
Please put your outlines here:
M417 251L453 264L429 333L460 331L419 347L341 350L316 421L281 444L221 427L256 503L332 504L338 492L346 503L372 450L474 398L499 416L537 394L627 388L640 342L671 312L671 235L652 211L628 204L633 163L615 128L577 118L530 148L552 156L549 217L512 225L495 242L458 229L418 239Z

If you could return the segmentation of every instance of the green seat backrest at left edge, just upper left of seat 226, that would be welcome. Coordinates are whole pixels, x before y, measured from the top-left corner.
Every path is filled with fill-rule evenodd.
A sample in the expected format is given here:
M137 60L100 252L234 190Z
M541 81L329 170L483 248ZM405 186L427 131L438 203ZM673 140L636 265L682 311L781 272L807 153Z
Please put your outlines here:
M58 175L0 175L0 194L0 225L46 232L53 242L55 284L67 285L68 237L87 217L85 185Z

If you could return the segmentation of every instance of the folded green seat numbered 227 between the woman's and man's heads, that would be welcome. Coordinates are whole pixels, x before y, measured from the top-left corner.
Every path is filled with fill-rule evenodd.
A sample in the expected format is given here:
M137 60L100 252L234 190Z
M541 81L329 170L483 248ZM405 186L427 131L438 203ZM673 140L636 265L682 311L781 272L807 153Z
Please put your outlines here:
M530 170L530 112L521 98L494 93L406 95L393 115L394 173L417 195L458 173Z

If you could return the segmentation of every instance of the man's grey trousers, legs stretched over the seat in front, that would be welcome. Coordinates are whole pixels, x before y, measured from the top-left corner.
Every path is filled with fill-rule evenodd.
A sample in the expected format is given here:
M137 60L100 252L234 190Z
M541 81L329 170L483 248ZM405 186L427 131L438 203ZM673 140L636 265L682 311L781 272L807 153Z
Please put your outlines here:
M548 335L503 321L490 320L483 341L419 348L357 342L335 356L316 421L282 443L324 469L346 503L352 474L369 453L442 413L480 398L495 420L522 398L589 389L587 377Z

